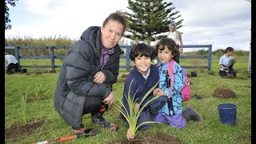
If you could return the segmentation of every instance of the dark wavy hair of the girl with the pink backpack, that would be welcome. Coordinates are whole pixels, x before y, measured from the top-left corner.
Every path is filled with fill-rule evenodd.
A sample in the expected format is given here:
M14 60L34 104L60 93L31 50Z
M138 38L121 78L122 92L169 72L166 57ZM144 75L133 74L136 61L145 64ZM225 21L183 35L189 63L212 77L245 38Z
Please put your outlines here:
M177 62L179 50L177 49L176 43L171 38L162 38L157 45L155 46L155 51L165 50L165 46L171 51L172 55L174 55L174 61Z

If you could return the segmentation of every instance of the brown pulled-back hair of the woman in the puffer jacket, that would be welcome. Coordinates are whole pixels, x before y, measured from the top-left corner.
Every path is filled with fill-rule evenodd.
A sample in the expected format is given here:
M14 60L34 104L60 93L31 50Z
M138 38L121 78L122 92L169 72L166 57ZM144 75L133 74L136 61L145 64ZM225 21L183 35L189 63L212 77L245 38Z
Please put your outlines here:
M106 26L106 24L110 21L116 21L122 24L123 26L123 30L122 30L122 34L125 32L126 30L126 26L127 26L127 21L126 21L126 16L121 12L121 11L116 11L112 14L110 14L105 21L103 22L103 27Z

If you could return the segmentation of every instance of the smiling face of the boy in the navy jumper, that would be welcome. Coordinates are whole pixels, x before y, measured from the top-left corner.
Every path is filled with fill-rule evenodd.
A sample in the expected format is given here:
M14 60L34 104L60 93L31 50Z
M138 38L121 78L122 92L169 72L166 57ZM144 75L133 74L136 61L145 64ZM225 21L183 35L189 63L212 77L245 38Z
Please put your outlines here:
M138 72L140 72L142 75L146 76L147 70L149 70L151 65L151 58L143 56L138 56L134 59L134 66L137 67Z

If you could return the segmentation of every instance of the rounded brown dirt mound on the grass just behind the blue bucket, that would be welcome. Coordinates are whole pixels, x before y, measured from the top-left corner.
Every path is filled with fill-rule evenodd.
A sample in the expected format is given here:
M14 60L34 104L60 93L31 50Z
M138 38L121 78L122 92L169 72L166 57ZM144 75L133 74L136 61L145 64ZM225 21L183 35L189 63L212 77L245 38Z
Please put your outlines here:
M217 98L235 98L234 91L230 90L226 86L220 86L214 90L213 96Z

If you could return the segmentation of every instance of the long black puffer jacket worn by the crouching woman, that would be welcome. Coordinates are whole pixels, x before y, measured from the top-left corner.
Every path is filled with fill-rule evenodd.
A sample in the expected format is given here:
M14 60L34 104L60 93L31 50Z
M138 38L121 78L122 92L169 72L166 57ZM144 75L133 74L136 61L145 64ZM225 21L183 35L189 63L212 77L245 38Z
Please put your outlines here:
M54 107L70 126L81 125L85 97L106 98L117 80L122 50L115 46L114 54L110 55L102 70L99 62L101 50L100 27L91 26L71 46L64 60L55 90ZM94 74L99 70L106 75L103 84L93 82Z

